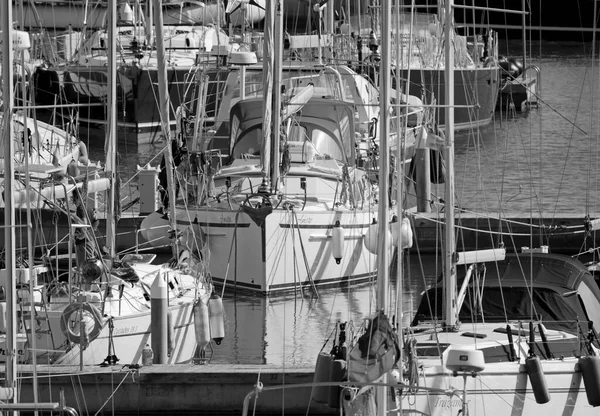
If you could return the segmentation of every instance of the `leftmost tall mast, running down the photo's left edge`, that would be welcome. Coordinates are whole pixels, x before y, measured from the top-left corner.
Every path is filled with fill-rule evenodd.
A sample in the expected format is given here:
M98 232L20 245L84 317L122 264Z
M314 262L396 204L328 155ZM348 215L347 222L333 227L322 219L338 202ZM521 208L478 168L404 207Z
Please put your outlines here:
M16 304L16 261L15 261L15 210L14 210L14 126L13 126L13 21L12 1L2 2L2 100L3 114L3 141L4 141L4 254L6 269L6 376L5 387L16 387L16 340L17 340L17 304ZM13 395L14 402L17 395Z

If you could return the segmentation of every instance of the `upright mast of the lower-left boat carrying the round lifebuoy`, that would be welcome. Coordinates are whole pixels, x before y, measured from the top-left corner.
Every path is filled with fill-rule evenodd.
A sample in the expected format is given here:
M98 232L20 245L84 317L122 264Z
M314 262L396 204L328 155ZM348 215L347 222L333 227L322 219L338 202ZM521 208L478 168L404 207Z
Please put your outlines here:
M111 259L115 258L116 247L116 190L117 185L117 79L115 77L117 63L117 2L111 1L107 10L107 37L108 50L107 57L107 115L106 115L106 142L104 150L106 151L106 172L109 178L108 202L106 204L106 246L108 255Z

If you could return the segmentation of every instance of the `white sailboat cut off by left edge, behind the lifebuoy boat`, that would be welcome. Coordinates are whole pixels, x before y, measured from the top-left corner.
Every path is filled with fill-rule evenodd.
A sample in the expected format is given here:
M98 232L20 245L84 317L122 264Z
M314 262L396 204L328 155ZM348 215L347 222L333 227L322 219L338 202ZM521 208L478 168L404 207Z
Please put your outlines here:
M86 144L78 137L78 125L71 121L64 128L54 123L43 122L35 116L37 106L30 102L31 96L27 80L30 76L31 59L29 49L31 36L28 32L14 30L13 48L16 59L4 65L12 65L17 74L18 102L13 106L14 114L10 118L13 124L11 140L14 147L14 204L17 213L17 224L23 224L26 211L33 210L34 218L45 220L65 213L68 215L75 193L85 194L86 198L96 198L98 192L105 191L108 180L103 177L103 168L99 163L89 160ZM6 105L3 97L3 105ZM5 117L0 116L0 124L4 125ZM8 119L7 119L8 120ZM8 122L8 121L7 121ZM5 143L3 142L2 148ZM4 211L5 158L0 158L0 215ZM62 220L62 218L61 218ZM44 235L55 232L54 224L45 223ZM50 230L51 229L51 230ZM17 230L17 248L27 246L29 238L25 227ZM4 230L0 231L3 234ZM41 235L42 233L39 233ZM36 238L36 243L43 238ZM33 244L36 244L33 243ZM3 246L3 243L0 244Z

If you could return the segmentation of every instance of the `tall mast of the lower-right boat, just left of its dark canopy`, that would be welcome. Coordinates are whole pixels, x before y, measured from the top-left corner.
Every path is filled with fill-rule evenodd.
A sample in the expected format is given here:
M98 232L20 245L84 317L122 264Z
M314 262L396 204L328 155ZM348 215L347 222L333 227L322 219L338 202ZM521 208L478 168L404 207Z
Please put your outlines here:
M446 96L446 143L444 146L444 160L446 161L446 181L444 206L446 229L444 231L444 294L445 316L444 322L447 329L456 328L458 316L456 309L456 258L454 241L454 0L446 0L444 13L444 37L446 65L444 71L445 96Z

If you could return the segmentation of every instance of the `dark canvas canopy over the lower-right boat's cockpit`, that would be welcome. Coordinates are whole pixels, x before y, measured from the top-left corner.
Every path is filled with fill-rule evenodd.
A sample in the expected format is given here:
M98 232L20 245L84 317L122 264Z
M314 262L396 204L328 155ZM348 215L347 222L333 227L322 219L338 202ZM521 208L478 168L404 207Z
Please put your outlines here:
M481 266L479 266L481 267ZM464 276L459 267L459 278ZM486 265L485 274L470 281L459 320L507 322L542 320L549 328L576 330L577 321L596 321L600 289L585 266L558 254L507 255ZM459 285L460 285L459 281ZM444 290L438 285L421 299L413 325L443 319ZM596 325L597 322L594 322Z

